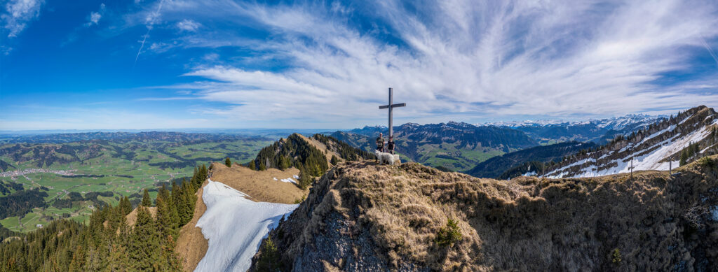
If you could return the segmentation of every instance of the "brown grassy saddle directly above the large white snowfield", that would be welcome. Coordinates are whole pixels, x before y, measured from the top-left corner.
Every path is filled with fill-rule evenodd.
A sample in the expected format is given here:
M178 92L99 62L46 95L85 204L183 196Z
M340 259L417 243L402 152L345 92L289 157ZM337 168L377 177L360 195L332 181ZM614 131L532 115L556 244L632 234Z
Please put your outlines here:
M299 175L299 170L293 167L284 171L274 168L255 171L240 165L227 167L215 162L212 164L211 179L246 193L253 201L294 204L295 200L301 200L309 193L294 183L281 181L284 178L297 180L294 175Z

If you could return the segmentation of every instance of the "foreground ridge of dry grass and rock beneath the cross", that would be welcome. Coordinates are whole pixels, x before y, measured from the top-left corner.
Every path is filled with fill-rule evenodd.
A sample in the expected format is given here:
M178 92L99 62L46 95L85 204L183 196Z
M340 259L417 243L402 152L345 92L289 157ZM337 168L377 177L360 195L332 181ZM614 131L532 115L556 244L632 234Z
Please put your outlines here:
M648 171L508 181L348 162L269 237L282 271L714 271L716 162L674 180ZM455 243L442 231L448 219ZM261 250L251 270L272 256Z

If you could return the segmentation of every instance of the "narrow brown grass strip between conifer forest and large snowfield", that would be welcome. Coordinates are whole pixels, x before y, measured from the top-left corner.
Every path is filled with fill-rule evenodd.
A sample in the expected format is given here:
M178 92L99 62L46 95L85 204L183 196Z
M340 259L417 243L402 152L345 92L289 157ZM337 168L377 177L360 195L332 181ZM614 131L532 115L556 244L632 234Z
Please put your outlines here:
M207 185L207 181L202 183L202 187ZM200 220L207 206L202 200L202 188L197 190L197 202L195 203L195 214L192 215L192 220L187 225L182 226L180 229L180 236L177 237L177 245L174 246L174 252L182 262L182 268L187 271L195 271L197 264L202 261L202 258L207 253L209 243L205 236L202 235L202 229L195 227L197 220Z

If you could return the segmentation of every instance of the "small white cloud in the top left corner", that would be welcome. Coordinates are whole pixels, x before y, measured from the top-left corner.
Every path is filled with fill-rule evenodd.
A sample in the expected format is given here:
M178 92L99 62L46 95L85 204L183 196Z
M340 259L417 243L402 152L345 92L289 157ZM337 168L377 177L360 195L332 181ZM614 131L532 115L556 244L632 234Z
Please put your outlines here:
M7 37L17 37L29 21L37 18L40 14L40 7L45 1L42 0L9 0L6 2L4 13L0 15L0 19L7 29Z

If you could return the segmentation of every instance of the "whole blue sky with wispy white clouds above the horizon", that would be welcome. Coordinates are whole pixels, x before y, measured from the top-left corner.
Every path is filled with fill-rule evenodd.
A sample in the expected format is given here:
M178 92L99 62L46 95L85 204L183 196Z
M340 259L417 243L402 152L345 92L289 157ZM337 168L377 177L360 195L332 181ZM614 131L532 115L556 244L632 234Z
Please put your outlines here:
M352 128L718 106L716 1L0 7L0 130Z

